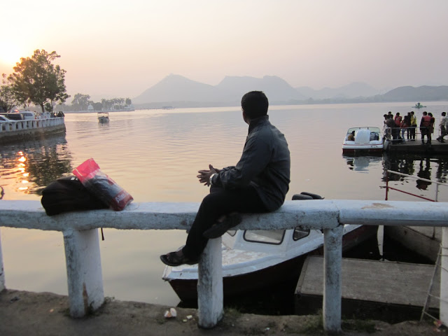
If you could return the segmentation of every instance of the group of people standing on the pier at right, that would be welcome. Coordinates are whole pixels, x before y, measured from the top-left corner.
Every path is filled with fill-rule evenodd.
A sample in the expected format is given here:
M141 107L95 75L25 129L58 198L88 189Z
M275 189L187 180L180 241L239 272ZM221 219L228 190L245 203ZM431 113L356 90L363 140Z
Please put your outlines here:
M420 133L421 133L421 143L430 144L431 134L434 133L435 118L433 113L423 112L420 120ZM391 139L393 143L400 143L402 141L415 141L416 137L416 127L417 120L414 111L408 112L404 118L400 116L400 113L393 113L391 111L388 114L384 114L384 125L386 130L384 132L384 137L386 139ZM437 141L444 142L443 137L448 134L448 118L447 113L442 112L440 117L440 137L437 137ZM406 133L406 139L405 139Z

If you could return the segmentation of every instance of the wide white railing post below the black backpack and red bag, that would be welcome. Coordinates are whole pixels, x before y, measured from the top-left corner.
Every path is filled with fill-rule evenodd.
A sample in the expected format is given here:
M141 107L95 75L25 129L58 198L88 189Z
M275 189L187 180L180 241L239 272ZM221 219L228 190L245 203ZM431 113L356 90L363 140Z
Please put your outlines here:
M83 317L104 302L98 229L64 231L70 315Z

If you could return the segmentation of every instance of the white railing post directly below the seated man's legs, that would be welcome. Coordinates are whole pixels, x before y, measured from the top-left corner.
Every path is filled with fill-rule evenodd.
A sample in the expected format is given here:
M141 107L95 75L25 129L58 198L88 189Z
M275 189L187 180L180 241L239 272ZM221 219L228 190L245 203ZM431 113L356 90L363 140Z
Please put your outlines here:
M197 266L197 315L201 328L213 328L223 318L222 254L221 237L209 239Z

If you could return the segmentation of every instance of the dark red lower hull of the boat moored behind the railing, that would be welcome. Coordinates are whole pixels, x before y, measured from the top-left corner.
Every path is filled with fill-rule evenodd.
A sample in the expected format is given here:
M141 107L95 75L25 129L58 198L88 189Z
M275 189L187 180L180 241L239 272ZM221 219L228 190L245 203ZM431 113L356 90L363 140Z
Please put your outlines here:
M363 225L348 232L342 239L343 251L360 244L366 239L372 237L377 232L377 226ZM284 283L284 281L294 279L297 281L302 270L305 258L309 254L323 255L323 246L316 248L307 254L299 255L290 260L280 262L276 265L258 269L254 272L247 272L237 276L223 277L224 297L235 297L249 292L261 290L275 285L276 283ZM197 300L197 279L170 279L169 284L172 286L181 301L190 302Z

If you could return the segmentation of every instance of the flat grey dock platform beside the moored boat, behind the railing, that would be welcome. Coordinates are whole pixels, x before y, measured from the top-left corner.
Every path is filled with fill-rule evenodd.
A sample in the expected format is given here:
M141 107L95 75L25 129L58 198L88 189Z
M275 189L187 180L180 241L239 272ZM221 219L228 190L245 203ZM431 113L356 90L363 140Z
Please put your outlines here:
M419 319L433 279L434 265L362 259L342 259L342 316L379 318L393 323ZM305 260L295 289L295 313L312 314L322 309L323 258ZM432 295L440 295L440 275ZM437 314L438 300L429 308Z

